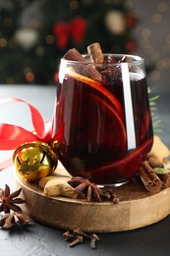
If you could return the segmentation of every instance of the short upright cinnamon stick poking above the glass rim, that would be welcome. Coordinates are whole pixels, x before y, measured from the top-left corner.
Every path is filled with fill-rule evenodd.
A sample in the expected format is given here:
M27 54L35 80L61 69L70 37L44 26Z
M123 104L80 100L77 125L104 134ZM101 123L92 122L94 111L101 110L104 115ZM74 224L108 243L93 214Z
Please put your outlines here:
M87 52L90 56L90 59L94 63L102 63L104 56L98 42L91 43L87 46Z

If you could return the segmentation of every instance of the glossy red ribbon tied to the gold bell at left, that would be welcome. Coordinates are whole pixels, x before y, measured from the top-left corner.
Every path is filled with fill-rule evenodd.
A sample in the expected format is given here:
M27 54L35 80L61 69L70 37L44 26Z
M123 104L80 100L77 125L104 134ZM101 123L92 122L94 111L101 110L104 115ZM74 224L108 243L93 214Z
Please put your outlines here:
M30 132L21 126L0 123L0 150L16 150L27 142L42 141L49 143L52 141L52 121L44 122L41 114L34 106L22 99L14 97L0 100L0 104L16 101L24 102L28 105L34 130ZM55 139L59 141L63 140L63 127L59 129ZM11 160L6 160L0 163L0 170L9 166L11 162Z

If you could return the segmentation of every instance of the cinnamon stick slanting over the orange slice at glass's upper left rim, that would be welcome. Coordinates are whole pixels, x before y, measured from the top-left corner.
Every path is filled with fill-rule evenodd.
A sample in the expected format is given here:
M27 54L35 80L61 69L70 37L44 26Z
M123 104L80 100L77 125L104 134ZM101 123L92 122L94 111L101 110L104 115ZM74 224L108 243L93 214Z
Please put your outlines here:
M83 55L75 48L70 49L64 55L63 58L65 58L67 60L80 61L80 62L84 62L84 63L86 62ZM101 80L102 80L101 74L95 69L95 67L93 65L90 65L87 62L86 62L86 64L81 64L81 63L79 63L79 65L73 64L72 68L80 75L88 77L92 80L95 80L97 82L101 82Z

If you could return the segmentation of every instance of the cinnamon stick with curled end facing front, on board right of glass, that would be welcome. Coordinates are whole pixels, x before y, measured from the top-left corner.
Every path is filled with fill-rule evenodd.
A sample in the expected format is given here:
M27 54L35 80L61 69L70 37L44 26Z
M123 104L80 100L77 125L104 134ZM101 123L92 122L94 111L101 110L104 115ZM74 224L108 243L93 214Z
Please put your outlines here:
M157 174L148 170L144 166L139 169L139 175L142 179L142 183L147 191L158 192L162 186L162 181L159 179Z

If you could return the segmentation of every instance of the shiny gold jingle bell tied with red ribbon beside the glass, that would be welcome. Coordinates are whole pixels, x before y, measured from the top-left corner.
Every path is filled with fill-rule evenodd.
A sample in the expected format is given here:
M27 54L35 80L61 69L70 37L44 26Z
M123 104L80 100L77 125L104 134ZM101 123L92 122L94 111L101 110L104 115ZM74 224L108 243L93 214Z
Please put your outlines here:
M21 145L13 155L16 170L28 181L37 181L50 175L58 163L58 156L43 142Z

